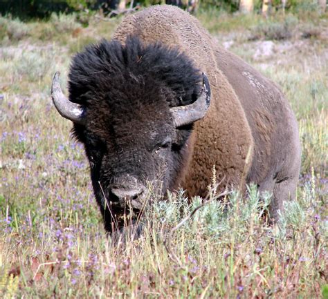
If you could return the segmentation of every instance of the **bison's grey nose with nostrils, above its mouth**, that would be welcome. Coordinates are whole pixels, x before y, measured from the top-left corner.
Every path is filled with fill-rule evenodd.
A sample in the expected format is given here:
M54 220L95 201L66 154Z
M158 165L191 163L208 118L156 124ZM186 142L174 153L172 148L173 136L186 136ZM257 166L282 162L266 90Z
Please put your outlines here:
M140 209L142 206L145 188L143 186L125 189L121 187L112 187L109 190L109 200L119 205L128 204L134 209Z

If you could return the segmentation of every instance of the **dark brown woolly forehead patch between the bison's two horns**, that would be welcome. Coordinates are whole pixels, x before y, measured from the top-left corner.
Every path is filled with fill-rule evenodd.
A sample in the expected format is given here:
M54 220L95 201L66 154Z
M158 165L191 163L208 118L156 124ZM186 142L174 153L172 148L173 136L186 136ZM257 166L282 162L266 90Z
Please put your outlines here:
M106 93L89 97L87 121L96 120L101 128L116 130L170 124L169 103L174 96L172 90L151 78L143 83L127 80L118 86L107 84Z

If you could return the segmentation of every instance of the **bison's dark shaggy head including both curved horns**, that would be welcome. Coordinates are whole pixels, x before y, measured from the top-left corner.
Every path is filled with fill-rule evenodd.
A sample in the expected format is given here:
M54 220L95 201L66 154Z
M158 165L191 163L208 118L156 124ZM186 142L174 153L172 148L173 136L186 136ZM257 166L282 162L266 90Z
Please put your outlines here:
M165 193L174 189L191 151L194 122L206 114L206 75L176 48L101 41L73 58L69 99L55 74L52 97L84 144L93 190L111 231L115 215L140 210L147 182Z

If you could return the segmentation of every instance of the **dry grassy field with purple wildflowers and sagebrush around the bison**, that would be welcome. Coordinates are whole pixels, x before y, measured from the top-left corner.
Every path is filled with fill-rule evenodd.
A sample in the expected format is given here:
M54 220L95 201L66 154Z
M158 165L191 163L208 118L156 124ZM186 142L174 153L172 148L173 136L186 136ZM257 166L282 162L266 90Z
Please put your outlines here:
M138 240L112 242L50 86L60 70L65 88L73 53L109 39L120 19L0 17L1 298L328 298L327 15L198 17L289 98L302 140L297 201L269 226L269 198L250 186L247 200L212 201L174 230L201 202L181 191L145 211Z

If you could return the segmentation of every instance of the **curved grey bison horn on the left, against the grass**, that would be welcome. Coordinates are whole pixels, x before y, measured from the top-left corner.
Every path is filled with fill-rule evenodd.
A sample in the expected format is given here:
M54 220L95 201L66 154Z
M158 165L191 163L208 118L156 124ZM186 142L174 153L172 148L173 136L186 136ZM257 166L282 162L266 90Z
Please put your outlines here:
M56 72L53 76L53 84L51 85L51 97L53 98L53 104L57 111L66 119L75 122L76 124L84 124L84 108L75 104L67 99L62 93L60 88L60 72Z

